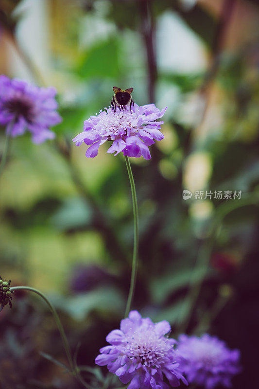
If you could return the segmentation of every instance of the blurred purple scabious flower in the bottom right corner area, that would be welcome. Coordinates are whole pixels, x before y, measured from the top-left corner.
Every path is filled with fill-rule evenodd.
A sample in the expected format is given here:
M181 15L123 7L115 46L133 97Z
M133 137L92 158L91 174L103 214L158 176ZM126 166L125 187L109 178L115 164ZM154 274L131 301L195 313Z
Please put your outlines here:
M179 336L178 357L190 383L213 389L231 387L231 378L241 371L239 350L229 350L216 336Z

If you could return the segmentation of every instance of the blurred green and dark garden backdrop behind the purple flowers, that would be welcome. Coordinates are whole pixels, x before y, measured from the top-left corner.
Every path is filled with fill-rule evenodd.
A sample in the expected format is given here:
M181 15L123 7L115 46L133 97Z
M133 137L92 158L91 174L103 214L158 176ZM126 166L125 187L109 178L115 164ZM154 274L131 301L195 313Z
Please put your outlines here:
M80 366L118 328L133 244L123 156L71 139L114 85L168 106L152 159L131 159L140 216L134 308L173 337L209 332L242 352L236 389L257 388L259 5L256 0L1 0L0 73L58 91L55 141L12 141L0 178L0 274L46 293ZM4 128L0 132L3 150ZM182 191L192 197L184 200ZM242 191L195 199L195 191ZM0 314L0 388L79 388L44 302ZM85 368L84 368L85 369ZM85 369L86 370L86 369ZM106 369L83 374L115 388ZM101 375L100 375L101 374Z

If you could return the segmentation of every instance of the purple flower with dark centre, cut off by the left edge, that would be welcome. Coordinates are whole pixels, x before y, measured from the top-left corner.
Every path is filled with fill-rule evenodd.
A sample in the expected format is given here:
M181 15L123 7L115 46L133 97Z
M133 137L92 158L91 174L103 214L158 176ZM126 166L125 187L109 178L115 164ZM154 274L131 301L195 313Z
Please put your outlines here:
M56 112L55 88L38 88L26 81L0 75L0 124L12 137L29 130L34 143L55 137L49 128L62 121Z

